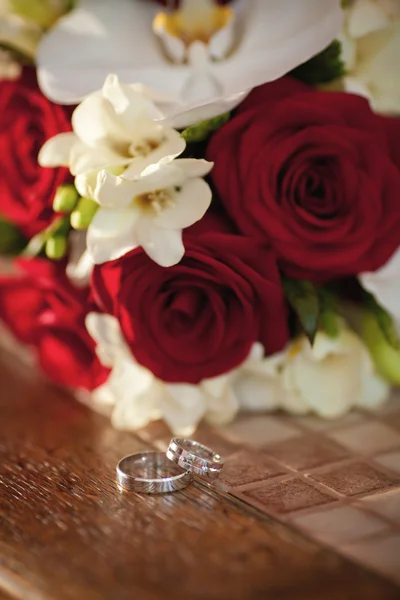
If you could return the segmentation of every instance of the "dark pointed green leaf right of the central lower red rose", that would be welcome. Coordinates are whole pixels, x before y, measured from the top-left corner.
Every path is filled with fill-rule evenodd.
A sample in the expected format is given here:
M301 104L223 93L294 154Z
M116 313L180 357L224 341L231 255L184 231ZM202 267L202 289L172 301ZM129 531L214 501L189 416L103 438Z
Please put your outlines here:
M286 298L297 314L304 333L314 343L320 317L318 289L310 281L284 278Z

